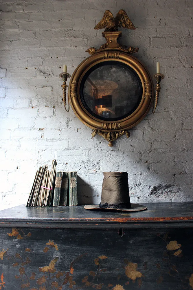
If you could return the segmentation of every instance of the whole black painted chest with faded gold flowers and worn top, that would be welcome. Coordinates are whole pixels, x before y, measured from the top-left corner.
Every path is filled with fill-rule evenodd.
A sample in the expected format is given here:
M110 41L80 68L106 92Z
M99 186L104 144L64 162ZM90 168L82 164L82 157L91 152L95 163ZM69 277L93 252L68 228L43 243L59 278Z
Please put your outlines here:
M193 289L193 202L0 211L0 290Z

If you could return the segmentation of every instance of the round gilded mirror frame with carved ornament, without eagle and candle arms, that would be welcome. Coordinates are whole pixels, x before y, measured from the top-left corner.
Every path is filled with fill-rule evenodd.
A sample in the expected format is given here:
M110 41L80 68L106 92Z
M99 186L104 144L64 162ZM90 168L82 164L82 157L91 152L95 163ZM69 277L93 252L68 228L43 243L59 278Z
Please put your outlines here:
M122 47L117 42L117 38L121 34L121 31L102 32L103 37L106 38L106 43L98 49L91 47L86 50L91 56L82 61L75 69L68 90L70 105L78 119L93 129L93 137L99 134L109 141L109 146L113 146L112 142L124 134L127 137L130 136L128 129L137 125L146 116L154 99L154 86L150 73L137 58L131 55L137 52L138 48ZM80 84L87 71L96 64L108 61L111 63L112 61L120 62L120 64L132 68L139 76L142 85L142 98L139 106L131 115L117 121L103 121L94 117L86 110L80 97Z

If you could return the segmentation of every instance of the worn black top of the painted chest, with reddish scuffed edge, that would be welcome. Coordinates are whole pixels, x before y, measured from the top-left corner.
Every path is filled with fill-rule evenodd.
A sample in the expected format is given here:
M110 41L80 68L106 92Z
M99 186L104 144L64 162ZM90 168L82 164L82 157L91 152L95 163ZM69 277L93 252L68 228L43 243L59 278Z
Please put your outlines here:
M0 211L0 226L40 228L157 228L192 227L193 202L145 203L147 210L116 212L84 206L25 207Z

